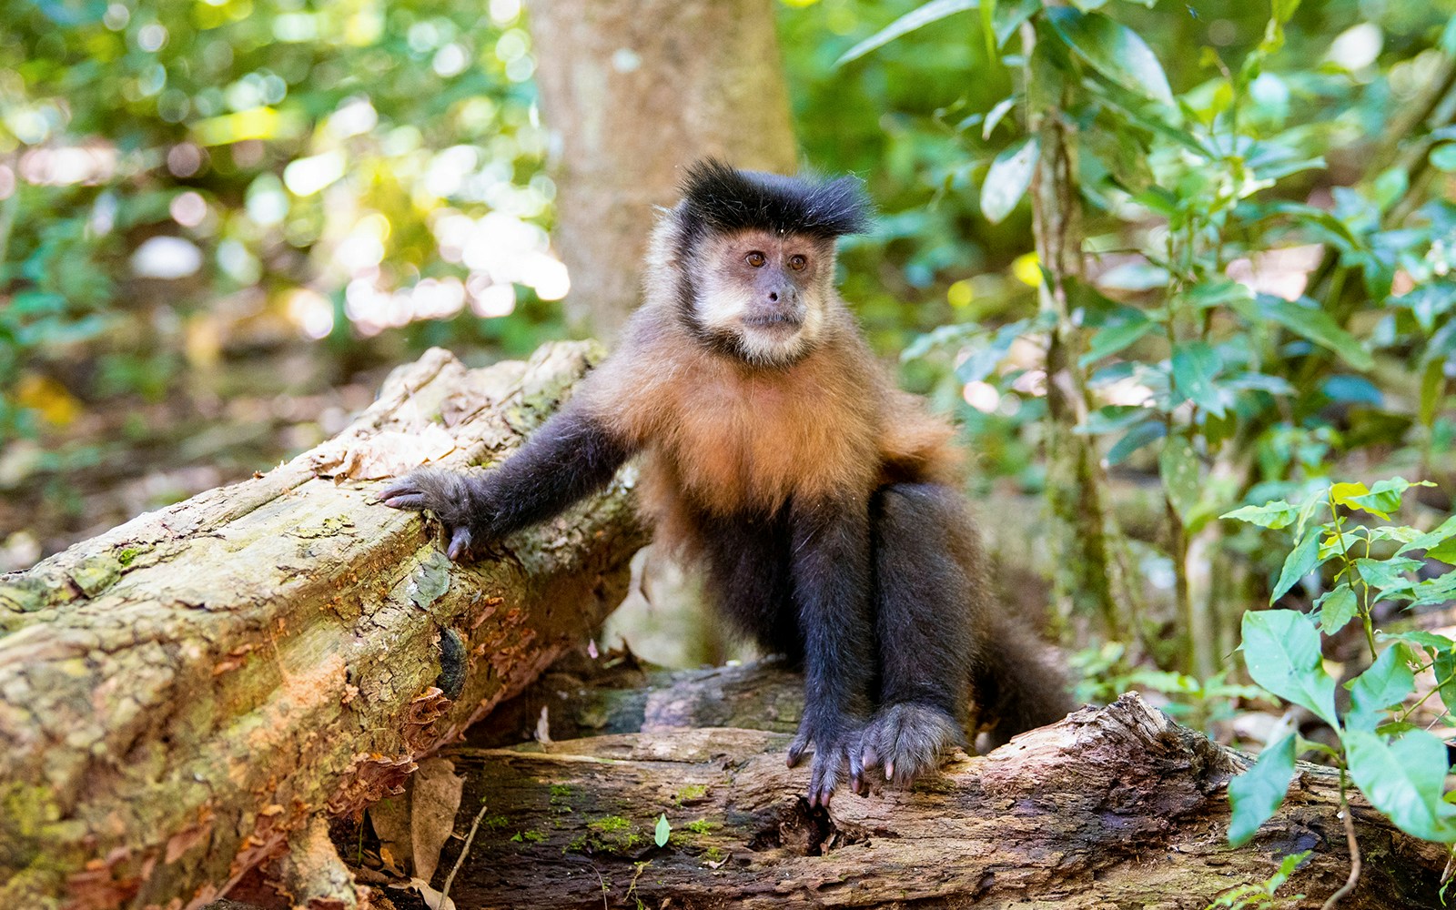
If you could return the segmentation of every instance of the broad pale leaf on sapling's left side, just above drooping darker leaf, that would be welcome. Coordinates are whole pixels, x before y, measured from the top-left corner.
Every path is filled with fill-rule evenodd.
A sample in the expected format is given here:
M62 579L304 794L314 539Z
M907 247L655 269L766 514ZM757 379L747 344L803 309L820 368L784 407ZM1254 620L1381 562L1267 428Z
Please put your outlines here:
M1251 610L1242 630L1243 662L1254 681L1338 729L1335 680L1325 673L1319 632L1309 617L1294 610Z

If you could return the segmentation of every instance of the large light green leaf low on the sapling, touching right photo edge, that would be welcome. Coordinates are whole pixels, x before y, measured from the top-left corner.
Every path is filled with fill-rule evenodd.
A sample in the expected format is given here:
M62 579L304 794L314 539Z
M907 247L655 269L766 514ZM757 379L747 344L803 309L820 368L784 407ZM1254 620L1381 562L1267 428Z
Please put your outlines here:
M1456 840L1456 807L1441 799L1446 744L1424 729L1412 729L1386 744L1373 732L1344 735L1350 776L1370 804L1412 837Z

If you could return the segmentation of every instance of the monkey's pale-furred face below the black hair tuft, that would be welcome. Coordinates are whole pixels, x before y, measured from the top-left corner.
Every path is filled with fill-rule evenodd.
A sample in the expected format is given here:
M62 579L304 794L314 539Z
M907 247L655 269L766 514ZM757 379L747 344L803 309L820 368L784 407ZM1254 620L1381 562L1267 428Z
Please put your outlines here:
M693 316L716 342L763 365L812 349L830 298L833 242L745 230L705 239L695 259Z

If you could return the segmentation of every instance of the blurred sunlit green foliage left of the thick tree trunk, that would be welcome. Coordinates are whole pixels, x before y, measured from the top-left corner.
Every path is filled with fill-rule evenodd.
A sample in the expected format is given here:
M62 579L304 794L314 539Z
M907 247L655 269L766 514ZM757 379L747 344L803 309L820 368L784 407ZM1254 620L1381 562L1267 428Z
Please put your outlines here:
M162 396L239 338L556 331L517 0L0 15L0 435ZM448 319L472 307L510 317Z

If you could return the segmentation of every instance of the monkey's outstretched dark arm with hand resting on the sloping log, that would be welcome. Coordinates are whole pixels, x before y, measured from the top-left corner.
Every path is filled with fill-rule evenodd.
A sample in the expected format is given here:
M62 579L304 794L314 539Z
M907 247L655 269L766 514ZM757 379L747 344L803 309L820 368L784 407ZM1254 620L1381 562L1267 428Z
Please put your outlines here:
M450 558L459 559L476 540L545 521L604 488L632 453L578 396L495 470L422 467L384 488L379 501L432 511L450 533Z

